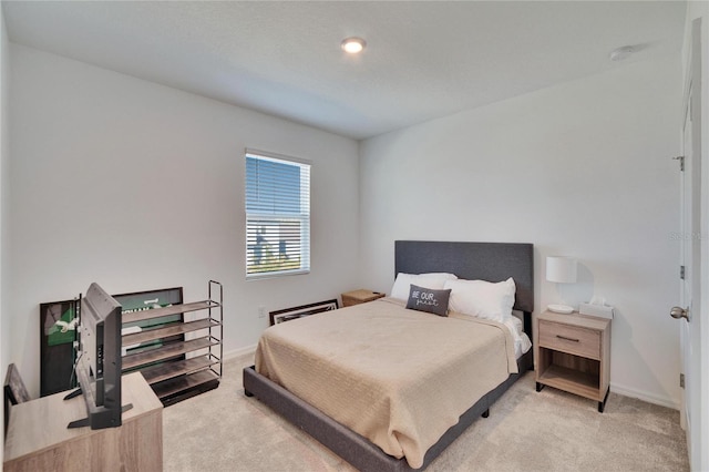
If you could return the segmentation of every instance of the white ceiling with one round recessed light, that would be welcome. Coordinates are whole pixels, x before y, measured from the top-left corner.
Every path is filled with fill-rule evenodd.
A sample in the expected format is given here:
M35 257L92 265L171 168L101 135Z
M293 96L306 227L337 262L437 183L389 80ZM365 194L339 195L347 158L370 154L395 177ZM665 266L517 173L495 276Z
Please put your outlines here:
M682 44L682 1L2 1L11 41L353 138ZM358 35L367 49L346 54ZM635 45L621 62L612 50Z

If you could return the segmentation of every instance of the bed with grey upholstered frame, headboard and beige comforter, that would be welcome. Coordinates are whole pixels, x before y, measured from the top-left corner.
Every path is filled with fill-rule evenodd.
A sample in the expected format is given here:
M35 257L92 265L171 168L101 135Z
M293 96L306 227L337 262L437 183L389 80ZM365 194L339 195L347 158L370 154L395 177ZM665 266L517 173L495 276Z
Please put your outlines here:
M394 243L394 274L399 273L452 273L461 279L491 283L512 277L513 308L522 314L523 330L532 339L531 244L400 240ZM386 298L338 310L337 317L317 315L291 321L290 327L281 324L269 328L268 336L265 332L259 341L258 371L255 367L244 369L245 393L256 396L359 470L424 469L473 421L480 415L486 417L494 401L533 368L533 349L515 356L510 330L501 329L497 322L471 322L465 319L470 317L455 314L441 322L435 316L405 309L403 305ZM363 331L363 336L380 338L379 342L354 336L364 325L374 326L377 332ZM444 325L448 331L439 332L439 327ZM387 337L390 328L398 337ZM320 341L308 338L310 332ZM345 338L336 338L341 334ZM349 341L343 342L346 338ZM405 347L403 339L411 339L412 346ZM449 350L449 345L462 346L464 339L475 339L475 342L465 342L471 353ZM427 342L430 346L417 349ZM335 345L342 345L339 347L345 349L342 353L333 350ZM296 351L296 347L299 350ZM491 349L502 349L506 355L492 353ZM286 355L279 359L278 352ZM379 366L383 362L372 362L377 356L405 357L407 362L413 363L408 366L394 360L397 368L387 368ZM433 358L436 357L452 360L435 365ZM288 363L288 358L297 358L299 362ZM431 366L417 374L429 358ZM360 369L359 365L366 366ZM487 365L492 370L481 370L487 369ZM459 387L453 377L462 379L455 382L466 383ZM395 384L395 389L390 390L390 384ZM348 393L351 397L346 397ZM353 409L346 410L342 401L351 403ZM383 427L378 422L383 422ZM373 429L374 424L378 429Z

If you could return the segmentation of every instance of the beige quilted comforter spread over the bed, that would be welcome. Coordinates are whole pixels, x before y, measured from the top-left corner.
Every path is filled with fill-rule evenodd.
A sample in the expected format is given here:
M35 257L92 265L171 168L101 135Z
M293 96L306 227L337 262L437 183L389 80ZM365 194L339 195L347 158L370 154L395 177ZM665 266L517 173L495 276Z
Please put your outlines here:
M256 370L417 469L517 365L503 325L383 298L268 328Z

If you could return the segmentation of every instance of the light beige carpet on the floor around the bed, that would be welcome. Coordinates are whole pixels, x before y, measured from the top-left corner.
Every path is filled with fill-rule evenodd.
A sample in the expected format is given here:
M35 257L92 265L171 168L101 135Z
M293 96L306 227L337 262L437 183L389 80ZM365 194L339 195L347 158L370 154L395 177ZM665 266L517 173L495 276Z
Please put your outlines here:
M353 471L255 398L242 368L224 365L218 389L163 412L164 469L182 471ZM515 383L428 469L448 471L688 471L675 410L610 393L606 410L559 390Z

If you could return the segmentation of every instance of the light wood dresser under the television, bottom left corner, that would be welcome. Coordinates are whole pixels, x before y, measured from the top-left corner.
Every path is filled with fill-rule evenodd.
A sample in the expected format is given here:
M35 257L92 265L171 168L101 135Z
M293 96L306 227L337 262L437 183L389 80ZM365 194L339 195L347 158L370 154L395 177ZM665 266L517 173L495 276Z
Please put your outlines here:
M54 393L10 408L3 470L9 471L162 471L163 404L140 372L122 379L122 425L68 429L86 417L79 396Z

